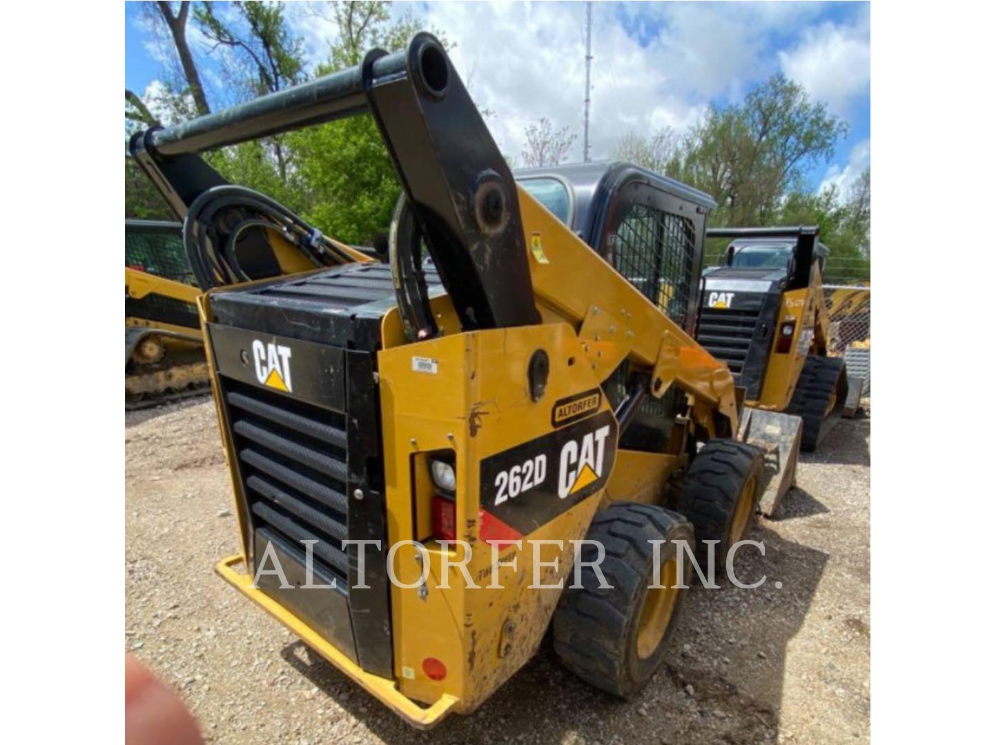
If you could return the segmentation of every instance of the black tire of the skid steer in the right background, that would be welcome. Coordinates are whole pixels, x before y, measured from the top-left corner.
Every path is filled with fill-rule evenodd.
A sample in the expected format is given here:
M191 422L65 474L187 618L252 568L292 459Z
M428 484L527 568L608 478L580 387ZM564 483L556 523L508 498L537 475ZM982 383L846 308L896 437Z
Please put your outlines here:
M832 393L835 405L828 410ZM794 395L787 405L787 413L801 417L804 428L801 430L801 450L815 450L825 435L842 416L849 392L849 378L846 375L846 361L840 357L818 357L808 355L797 380Z

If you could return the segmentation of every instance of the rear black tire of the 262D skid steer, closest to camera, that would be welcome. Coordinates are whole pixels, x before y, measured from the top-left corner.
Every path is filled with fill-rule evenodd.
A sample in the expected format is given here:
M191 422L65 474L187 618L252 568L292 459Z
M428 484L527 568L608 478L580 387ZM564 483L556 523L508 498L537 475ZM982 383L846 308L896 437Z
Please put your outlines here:
M590 523L588 540L604 546L600 569L613 587L600 589L596 574L580 571L582 587L567 586L553 617L554 649L563 665L608 693L627 698L637 693L662 663L687 590L678 590L673 614L651 655L638 657L638 621L653 582L652 544L660 546L660 565L676 555L672 541L686 540L693 549L694 530L674 512L654 505L614 503ZM596 546L584 544L584 560L596 558ZM572 579L568 581L568 585Z

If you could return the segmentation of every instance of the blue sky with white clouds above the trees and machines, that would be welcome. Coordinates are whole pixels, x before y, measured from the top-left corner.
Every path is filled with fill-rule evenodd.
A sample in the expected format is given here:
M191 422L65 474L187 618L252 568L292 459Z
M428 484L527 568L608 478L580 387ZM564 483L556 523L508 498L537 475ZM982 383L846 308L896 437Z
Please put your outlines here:
M218 3L218 12L226 3ZM332 24L291 3L287 16L309 64L327 57ZM394 3L455 43L453 62L504 152L517 157L527 124L545 116L582 131L583 3ZM693 125L709 101L737 101L783 72L824 100L850 132L831 163L808 175L845 189L870 165L869 3L612 3L593 6L591 149L607 157L626 131ZM125 3L125 85L143 94L177 66L137 3ZM190 34L215 106L234 102L217 52ZM571 153L581 157L580 141Z

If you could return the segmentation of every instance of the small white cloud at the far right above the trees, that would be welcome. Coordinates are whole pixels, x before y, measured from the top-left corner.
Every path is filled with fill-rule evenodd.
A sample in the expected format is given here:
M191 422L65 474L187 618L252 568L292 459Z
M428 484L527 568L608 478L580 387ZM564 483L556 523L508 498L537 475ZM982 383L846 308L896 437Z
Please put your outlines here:
M838 114L870 92L870 29L862 23L809 26L793 49L777 55L783 73Z

